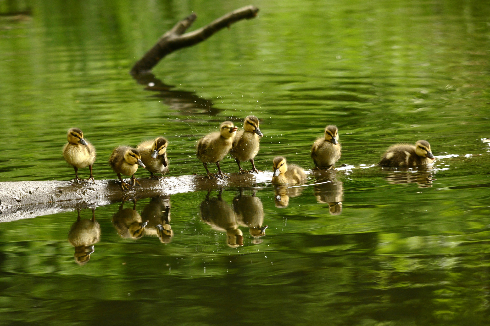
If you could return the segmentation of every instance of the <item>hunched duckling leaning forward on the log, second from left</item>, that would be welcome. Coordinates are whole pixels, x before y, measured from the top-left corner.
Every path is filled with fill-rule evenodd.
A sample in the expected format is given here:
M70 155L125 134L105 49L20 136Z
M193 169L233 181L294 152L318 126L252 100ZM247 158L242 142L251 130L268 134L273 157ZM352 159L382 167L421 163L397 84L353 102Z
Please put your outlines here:
M109 165L118 175L119 180L121 180L121 188L123 191L129 190L137 183L141 184L134 178L134 174L138 170L138 165L146 167L143 162L141 162L140 152L136 148L129 146L118 146L112 151L111 157L109 158ZM121 174L131 176L131 184L127 184L121 178Z

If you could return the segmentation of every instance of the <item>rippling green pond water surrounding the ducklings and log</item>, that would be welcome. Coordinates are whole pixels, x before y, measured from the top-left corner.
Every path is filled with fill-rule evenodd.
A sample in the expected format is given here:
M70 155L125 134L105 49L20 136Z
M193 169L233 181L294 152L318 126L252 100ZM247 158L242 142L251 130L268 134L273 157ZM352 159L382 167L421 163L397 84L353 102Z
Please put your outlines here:
M158 135L170 175L202 173L196 140L248 114L265 135L261 170L275 155L311 169L309 148L331 123L337 165L355 166L310 175L331 181L316 186L165 197L167 244L117 228L158 199L137 201L137 214L126 202L123 217L121 203L98 207L83 266L68 241L76 210L1 223L0 325L489 324L488 1L259 0L256 19L155 67L173 87L150 91L128 74L179 19L196 12L196 28L247 4L0 0L0 181L72 179L61 148L73 126L97 148L96 179L115 178L112 148ZM459 156L428 171L369 167L419 139ZM238 170L230 158L222 167ZM241 200L263 210L252 222L265 236L240 221ZM244 246L227 246L202 205L231 212Z

